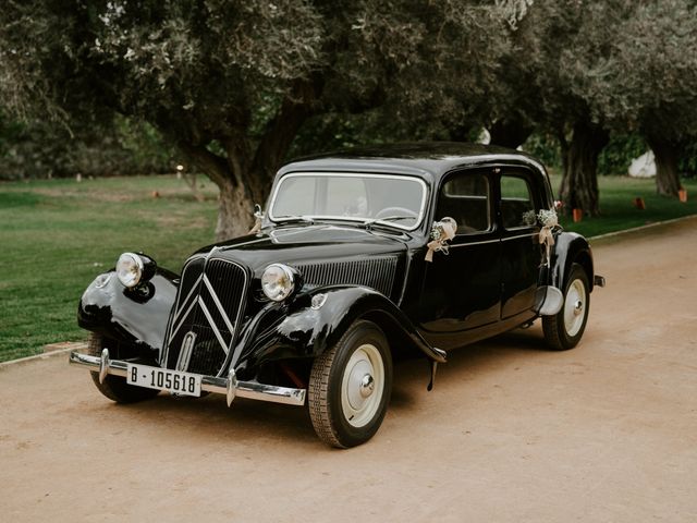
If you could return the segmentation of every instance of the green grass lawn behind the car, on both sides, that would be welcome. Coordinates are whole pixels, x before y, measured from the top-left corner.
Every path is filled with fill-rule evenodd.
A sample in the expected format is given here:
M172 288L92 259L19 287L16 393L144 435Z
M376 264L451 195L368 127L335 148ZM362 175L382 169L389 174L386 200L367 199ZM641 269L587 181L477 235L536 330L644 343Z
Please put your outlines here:
M188 254L212 243L217 188L198 178L204 202L174 177L1 183L0 361L86 339L75 319L80 296L122 252L143 251L179 271ZM553 177L554 190L559 182ZM602 216L563 218L566 230L594 236L697 214L697 180L684 182L686 204L657 196L652 180L599 182ZM633 206L637 196L646 210Z

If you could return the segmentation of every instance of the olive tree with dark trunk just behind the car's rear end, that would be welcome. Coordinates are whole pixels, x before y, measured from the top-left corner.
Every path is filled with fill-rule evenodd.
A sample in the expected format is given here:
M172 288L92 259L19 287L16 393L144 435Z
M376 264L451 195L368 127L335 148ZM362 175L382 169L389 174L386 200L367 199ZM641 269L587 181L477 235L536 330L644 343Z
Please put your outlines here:
M555 135L562 153L560 196L567 208L599 212L598 156L608 143L603 115L579 85L595 83L590 65L614 38L612 0L535 0L508 33L511 50L500 70L491 113L493 143L521 145L533 130ZM589 65L590 64L590 65Z

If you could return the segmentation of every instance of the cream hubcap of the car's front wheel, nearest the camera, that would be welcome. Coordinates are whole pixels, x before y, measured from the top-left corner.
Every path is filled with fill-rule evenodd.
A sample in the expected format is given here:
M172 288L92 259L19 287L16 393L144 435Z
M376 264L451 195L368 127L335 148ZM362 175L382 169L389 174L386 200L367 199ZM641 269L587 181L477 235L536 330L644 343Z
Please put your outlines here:
M380 351L370 344L354 351L341 380L341 408L354 427L370 423L382 400L384 364Z

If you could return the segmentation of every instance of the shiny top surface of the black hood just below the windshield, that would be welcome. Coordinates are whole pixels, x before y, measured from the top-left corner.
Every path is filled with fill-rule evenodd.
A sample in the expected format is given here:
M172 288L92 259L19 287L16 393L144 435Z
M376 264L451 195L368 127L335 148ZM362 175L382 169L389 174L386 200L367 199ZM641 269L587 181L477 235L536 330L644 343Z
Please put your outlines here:
M382 233L332 224L289 226L205 247L200 256L215 251L216 257L246 265L259 276L267 265L321 264L337 259L371 259L406 251L406 233Z

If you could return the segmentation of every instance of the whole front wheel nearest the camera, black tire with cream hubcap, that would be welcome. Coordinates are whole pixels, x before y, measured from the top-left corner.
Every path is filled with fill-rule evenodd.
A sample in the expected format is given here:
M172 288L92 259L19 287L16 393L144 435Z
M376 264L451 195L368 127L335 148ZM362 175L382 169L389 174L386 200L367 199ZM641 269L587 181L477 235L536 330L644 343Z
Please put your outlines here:
M368 441L382 424L391 392L392 356L384 333L371 321L354 323L313 363L307 403L315 431L342 449Z

